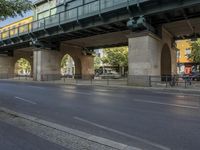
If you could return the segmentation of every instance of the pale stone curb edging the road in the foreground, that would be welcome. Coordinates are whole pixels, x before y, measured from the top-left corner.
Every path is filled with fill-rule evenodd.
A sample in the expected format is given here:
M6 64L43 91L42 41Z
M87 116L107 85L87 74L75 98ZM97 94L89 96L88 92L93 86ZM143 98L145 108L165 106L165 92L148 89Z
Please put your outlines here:
M109 140L109 139L97 137L97 136L94 136L94 135L91 135L91 134L88 134L88 133L85 133L85 132L82 132L82 131L79 131L79 130L71 129L71 128L56 124L56 123L41 120L39 118L32 117L32 116L29 116L29 115L26 115L26 114L18 113L18 112L12 111L12 110L7 109L7 108L0 107L0 111L7 113L7 114L10 114L10 115L13 115L13 116L23 118L25 120L29 120L29 121L34 122L34 123L38 123L40 125L44 125L44 126L47 126L47 127L50 127L50 128L53 128L53 129L56 129L56 130L59 130L59 131L62 131L62 132L68 133L68 134L71 134L73 136L76 136L76 137L79 137L79 138L82 138L82 139L86 139L90 142L94 142L94 143L98 143L100 145L110 147L111 149L114 149L114 150L142 150L142 149L132 147L132 146L128 146L128 145L125 145L125 144L122 144L122 143L118 143L118 142L115 142L115 141L112 141L112 140Z

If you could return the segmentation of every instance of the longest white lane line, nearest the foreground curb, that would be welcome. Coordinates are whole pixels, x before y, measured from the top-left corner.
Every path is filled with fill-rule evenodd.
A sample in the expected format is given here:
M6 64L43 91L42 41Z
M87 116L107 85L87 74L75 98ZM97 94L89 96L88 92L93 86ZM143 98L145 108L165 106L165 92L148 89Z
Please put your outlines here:
M94 122L91 122L91 121L88 121L88 120L85 120L85 119L82 119L82 118L79 118L79 117L74 117L74 119L78 120L78 121L82 121L82 122L90 124L90 125L93 125L95 127L98 127L98 128L101 128L101 129L104 129L104 130L119 134L121 136L125 136L125 137L128 137L128 138L137 140L139 142L143 142L145 144L160 148L161 150L170 150L170 148L165 147L163 145L160 145L160 144L157 144L157 143L153 143L153 142L151 142L149 140L146 140L146 139L143 139L143 138L140 138L140 137L137 137L137 136L133 136L133 135L127 134L125 132L121 132L121 131L118 131L118 130L115 130L115 129L112 129L112 128L108 128L106 126L103 126L103 125L100 125L100 124L97 124L97 123L94 123Z

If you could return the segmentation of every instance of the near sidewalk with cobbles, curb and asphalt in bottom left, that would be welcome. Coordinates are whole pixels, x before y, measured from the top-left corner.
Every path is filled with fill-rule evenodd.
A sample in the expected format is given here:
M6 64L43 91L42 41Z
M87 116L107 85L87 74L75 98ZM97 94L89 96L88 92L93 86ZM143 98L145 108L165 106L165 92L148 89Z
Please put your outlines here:
M0 149L141 150L3 107L0 107Z

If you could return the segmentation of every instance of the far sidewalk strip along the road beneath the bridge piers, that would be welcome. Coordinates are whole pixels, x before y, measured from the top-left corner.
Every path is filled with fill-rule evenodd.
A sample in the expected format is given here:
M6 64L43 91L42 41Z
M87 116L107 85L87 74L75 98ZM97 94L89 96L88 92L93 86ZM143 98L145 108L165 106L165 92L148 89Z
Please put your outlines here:
M67 79L67 80L54 80L54 81L33 81L33 80L16 80L16 79L1 79L0 81L5 82L17 82L17 83L31 83L31 84L52 84L52 85L80 85L80 86L100 86L100 87L112 87L112 88L127 88L127 89L145 89L145 90L162 90L167 92L200 92L200 87L171 87L168 85L159 86L159 87L142 87L142 86L129 86L127 85L126 80L74 80L74 79Z

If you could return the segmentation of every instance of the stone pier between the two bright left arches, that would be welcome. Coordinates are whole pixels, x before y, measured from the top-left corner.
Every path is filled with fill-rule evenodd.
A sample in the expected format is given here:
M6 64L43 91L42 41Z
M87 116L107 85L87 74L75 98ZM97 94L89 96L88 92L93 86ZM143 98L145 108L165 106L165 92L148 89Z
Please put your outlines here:
M33 80L60 79L59 51L36 49L33 52Z

